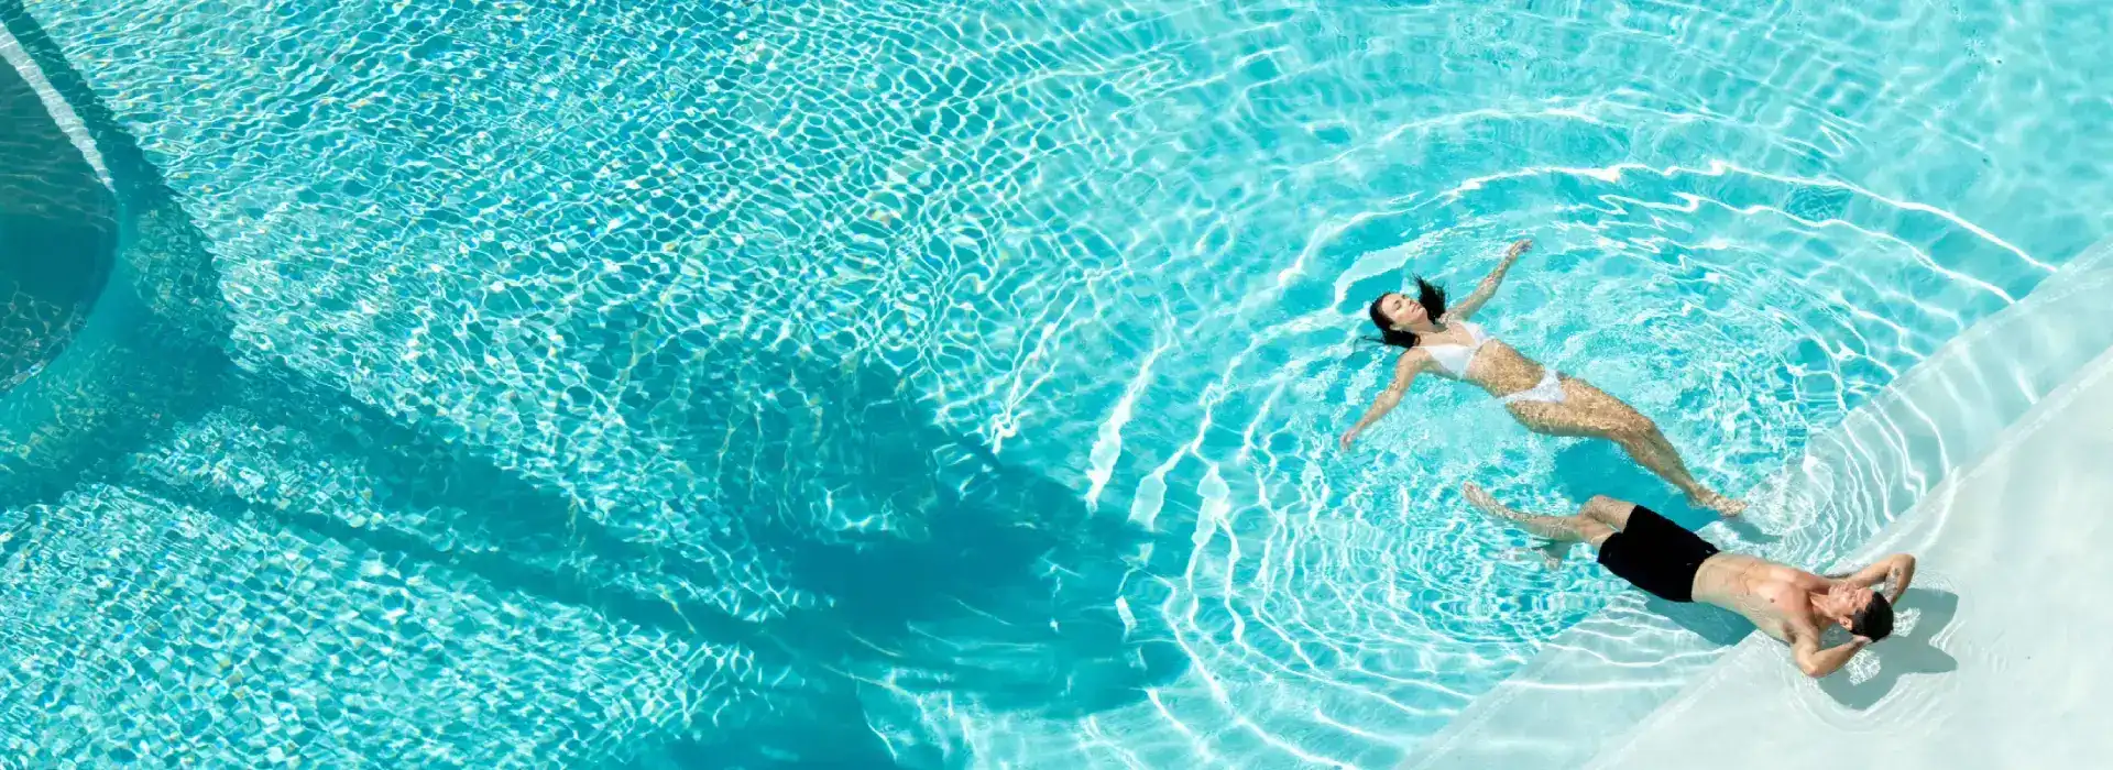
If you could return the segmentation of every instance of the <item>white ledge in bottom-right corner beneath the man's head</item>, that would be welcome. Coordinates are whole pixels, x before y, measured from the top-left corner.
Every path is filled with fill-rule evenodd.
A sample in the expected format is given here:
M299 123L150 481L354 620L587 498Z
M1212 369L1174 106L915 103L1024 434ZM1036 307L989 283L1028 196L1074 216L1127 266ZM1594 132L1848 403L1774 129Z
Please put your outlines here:
M2092 768L2113 582L2113 352L1849 561L1919 555L1902 631L1811 681L1752 637L1591 768ZM1870 667L1870 669L1864 669Z

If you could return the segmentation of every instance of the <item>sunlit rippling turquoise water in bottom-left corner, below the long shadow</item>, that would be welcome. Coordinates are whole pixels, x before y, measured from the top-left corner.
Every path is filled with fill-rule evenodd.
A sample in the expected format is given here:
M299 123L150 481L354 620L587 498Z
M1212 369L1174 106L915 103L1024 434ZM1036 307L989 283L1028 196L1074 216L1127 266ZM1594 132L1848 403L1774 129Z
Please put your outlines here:
M737 648L137 489L0 532L0 751L25 766L564 764L784 686Z

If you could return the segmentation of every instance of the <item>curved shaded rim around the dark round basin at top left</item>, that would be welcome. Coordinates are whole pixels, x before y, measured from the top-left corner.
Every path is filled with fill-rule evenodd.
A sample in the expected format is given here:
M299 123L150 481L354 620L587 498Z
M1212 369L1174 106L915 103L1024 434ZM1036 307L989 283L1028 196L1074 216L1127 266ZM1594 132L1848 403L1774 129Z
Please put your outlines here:
M0 0L0 65L112 196L112 264L70 344L0 390L0 496L49 502L205 403L228 338L220 276L161 171L15 0Z

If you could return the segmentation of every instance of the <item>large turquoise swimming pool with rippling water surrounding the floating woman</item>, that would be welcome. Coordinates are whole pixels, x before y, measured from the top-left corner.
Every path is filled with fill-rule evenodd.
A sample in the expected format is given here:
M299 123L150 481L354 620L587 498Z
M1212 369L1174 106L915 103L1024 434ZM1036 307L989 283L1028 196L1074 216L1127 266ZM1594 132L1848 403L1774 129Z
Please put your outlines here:
M2113 200L2088 2L0 8L224 304L8 500L42 757L1386 766L1619 591L1462 481L1682 506L1340 454L1369 295L1536 238L1488 327L1809 523Z

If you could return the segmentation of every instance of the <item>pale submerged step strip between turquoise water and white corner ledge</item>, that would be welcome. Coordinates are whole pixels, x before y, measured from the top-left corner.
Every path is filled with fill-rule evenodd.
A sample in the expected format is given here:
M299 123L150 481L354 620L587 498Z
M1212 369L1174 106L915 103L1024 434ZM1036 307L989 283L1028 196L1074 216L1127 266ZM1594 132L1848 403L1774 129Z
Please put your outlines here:
M2113 295L2113 243L2086 249L2022 302L1974 325L1851 411L1843 424L1813 437L1798 462L1754 494L1756 511L1750 519L1760 530L1779 534L1777 540L1754 538L1722 523L1709 525L1705 536L1728 548L1819 567L1851 557L1830 553L1830 544L1872 542L1866 548L1874 548L1891 542L1891 536L1876 542L1872 538L1891 534L1887 527L1895 521L1895 530L1910 525L1910 519L1942 523L1942 515L1927 513L1950 511L1946 494L1940 494L1950 489L1946 479L1961 477L1993 454L2001 458L2005 449L1999 447L2014 437L2012 428L2028 413L2041 416L2054 407L2047 399L2077 380L2079 371L2090 371L2083 378L2102 376L2105 361L2094 359L2113 348L2113 304L2105 302L2107 295ZM2043 401L2047 403L2041 405ZM2014 515L1990 506L1961 511ZM1927 578L1919 582L1931 589L1948 574L1944 567L1925 572ZM1469 705L1422 745L1407 768L1578 768L1614 747L1631 745L1640 726L1699 677L1716 681L1712 667L1720 660L1724 667L1764 660L1796 675L1779 660L1783 652L1773 639L1750 633L1739 637L1750 627L1728 614L1680 608L1676 620L1665 608L1648 605L1640 593L1623 593ZM1726 658L1733 650L1737 654ZM1805 696L1826 698L1811 684L1802 688ZM1714 749L1737 734L1722 724L1709 728L1686 734L1709 736ZM1712 757L1720 755L1722 751L1712 751Z

